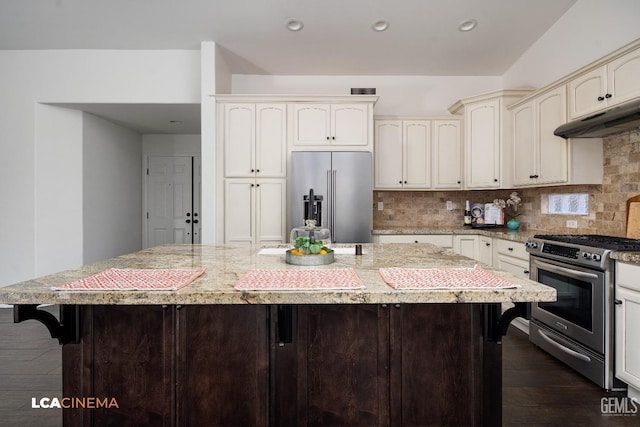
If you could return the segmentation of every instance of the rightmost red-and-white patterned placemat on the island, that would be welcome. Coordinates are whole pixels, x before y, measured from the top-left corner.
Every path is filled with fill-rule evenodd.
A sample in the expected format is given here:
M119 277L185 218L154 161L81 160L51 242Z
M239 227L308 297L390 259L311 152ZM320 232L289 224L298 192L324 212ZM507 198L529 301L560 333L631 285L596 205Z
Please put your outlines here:
M508 289L519 287L477 265L473 268L381 268L394 289Z

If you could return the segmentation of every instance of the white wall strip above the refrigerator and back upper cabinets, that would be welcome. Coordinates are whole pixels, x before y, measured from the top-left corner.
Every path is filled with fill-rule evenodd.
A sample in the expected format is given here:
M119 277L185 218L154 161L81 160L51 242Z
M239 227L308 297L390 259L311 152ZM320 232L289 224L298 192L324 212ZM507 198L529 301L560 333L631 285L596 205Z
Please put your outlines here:
M350 95L375 87L377 115L448 115L461 98L502 89L499 76L233 76L234 94Z

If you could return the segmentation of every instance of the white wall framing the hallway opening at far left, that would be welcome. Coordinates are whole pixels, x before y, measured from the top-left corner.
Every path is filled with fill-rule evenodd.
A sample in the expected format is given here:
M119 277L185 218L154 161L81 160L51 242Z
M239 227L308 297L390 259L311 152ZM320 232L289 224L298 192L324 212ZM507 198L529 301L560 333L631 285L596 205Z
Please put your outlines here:
M80 226L64 209L49 210L61 204L49 189L67 192L64 202L81 209L74 181L81 173L74 148L82 139L81 117L40 103L199 103L200 51L0 51L0 70L1 286L81 264L81 233L62 240L48 234L50 225ZM72 138L59 137L65 134ZM48 173L56 165L65 173ZM56 247L72 255L46 259Z

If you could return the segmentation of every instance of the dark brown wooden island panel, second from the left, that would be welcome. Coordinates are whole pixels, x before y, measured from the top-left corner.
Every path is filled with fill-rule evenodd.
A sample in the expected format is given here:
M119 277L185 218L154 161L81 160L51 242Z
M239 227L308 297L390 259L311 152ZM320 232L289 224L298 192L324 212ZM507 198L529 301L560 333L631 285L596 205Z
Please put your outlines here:
M166 425L269 424L268 310L265 305L178 310L178 416Z

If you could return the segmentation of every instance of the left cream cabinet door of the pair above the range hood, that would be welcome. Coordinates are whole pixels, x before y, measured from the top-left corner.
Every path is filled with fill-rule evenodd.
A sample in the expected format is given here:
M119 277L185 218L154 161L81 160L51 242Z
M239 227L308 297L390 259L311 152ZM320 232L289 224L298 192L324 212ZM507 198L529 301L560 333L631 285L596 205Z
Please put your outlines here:
M567 83L569 120L594 113L604 107L607 84L606 67L600 67Z

